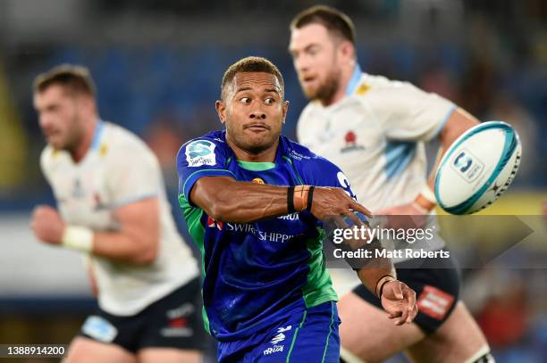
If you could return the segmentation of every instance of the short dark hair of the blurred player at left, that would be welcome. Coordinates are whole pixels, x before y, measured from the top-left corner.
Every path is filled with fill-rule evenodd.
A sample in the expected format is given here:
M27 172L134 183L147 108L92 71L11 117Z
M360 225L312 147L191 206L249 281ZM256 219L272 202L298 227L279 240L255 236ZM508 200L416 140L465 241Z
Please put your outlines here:
M95 97L97 93L95 82L91 78L88 68L80 65L61 64L39 74L34 79L32 90L34 93L44 92L53 85L68 87L72 92L79 92L92 97Z

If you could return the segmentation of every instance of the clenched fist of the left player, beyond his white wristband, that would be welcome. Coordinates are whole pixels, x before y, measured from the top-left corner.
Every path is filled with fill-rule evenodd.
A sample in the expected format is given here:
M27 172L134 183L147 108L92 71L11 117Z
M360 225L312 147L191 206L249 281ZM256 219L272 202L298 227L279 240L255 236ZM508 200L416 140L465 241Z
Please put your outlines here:
M60 244L65 226L57 210L48 205L38 205L32 211L30 228L32 228L34 235L44 243Z

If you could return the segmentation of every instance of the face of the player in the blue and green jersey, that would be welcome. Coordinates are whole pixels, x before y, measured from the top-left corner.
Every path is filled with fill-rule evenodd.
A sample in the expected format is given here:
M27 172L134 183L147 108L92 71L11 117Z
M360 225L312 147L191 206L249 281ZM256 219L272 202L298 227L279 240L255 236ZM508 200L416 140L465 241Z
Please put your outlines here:
M228 139L248 153L273 147L289 106L282 100L278 79L265 72L241 72L226 88L216 110L226 124Z

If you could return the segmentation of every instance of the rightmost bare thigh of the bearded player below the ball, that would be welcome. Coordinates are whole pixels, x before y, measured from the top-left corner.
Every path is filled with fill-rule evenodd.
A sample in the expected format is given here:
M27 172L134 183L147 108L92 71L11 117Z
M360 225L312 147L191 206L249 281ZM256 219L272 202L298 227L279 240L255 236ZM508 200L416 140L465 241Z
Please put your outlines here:
M410 347L407 355L415 362L493 362L484 334L461 301L444 324Z

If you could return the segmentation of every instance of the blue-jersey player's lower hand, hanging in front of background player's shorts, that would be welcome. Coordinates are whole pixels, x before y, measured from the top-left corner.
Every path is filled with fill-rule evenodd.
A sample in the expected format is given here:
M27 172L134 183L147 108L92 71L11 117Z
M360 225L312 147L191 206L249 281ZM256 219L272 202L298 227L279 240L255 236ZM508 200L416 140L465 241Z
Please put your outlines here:
M395 325L411 323L417 316L416 293L408 285L393 280L383 285L382 306L388 318L396 319Z

